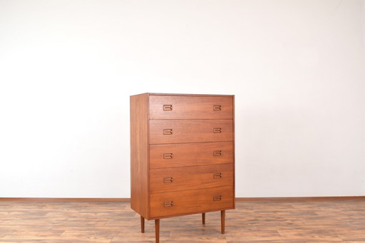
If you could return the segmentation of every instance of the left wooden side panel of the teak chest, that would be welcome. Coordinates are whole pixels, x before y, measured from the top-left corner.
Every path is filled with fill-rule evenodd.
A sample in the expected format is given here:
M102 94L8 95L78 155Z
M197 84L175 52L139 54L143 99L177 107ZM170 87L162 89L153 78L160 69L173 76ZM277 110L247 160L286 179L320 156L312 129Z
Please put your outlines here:
M148 218L148 94L130 96L130 207Z

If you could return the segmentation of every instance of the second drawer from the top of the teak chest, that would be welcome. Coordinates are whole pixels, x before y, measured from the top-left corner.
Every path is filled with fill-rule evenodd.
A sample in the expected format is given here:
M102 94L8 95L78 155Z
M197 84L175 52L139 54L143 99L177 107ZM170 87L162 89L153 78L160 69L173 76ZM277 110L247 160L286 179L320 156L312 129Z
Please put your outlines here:
M227 142L233 120L150 120L150 144Z

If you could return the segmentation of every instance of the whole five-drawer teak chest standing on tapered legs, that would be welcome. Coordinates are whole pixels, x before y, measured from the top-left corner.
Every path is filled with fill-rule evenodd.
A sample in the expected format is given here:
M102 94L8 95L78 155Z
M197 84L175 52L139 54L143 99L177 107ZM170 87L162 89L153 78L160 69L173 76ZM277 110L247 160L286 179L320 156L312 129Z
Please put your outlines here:
M130 207L145 219L235 208L234 95L130 96Z

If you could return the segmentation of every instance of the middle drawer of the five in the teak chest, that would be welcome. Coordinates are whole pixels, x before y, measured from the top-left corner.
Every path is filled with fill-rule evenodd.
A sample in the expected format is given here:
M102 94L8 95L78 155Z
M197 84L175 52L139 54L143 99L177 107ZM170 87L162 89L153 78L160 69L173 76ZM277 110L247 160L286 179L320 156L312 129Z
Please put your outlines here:
M232 162L232 142L150 145L150 169Z

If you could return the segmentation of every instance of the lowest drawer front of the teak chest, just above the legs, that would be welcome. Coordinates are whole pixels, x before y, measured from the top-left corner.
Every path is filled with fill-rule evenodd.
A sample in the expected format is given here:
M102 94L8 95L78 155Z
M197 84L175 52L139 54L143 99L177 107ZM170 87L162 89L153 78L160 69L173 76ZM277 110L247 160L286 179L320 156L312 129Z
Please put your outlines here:
M233 187L150 194L150 217L168 217L233 208Z

